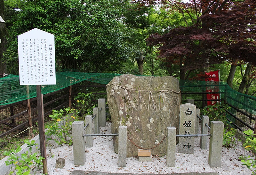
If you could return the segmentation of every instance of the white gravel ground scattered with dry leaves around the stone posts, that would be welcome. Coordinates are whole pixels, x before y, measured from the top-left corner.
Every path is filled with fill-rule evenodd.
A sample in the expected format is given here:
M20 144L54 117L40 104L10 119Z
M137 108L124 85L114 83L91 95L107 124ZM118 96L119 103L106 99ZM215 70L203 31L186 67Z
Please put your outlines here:
M106 128L101 127L100 133L111 133L111 123L107 123ZM175 167L166 167L166 156L153 157L152 162L139 162L138 158L127 158L126 167L118 167L118 154L114 152L112 136L98 136L93 139L93 147L86 148L86 162L83 166L74 166L73 147L57 146L54 142L49 142L47 149L47 169L49 175L68 175L73 170L84 171L102 171L113 173L184 173L184 172L218 172L223 175L250 175L251 171L238 161L234 149L222 147L222 158L220 168L211 168L208 164L209 150L200 149L200 137L196 137L195 153L178 153L176 146L176 165ZM49 146L53 143L52 146ZM50 149L51 148L51 149ZM237 146L238 154L242 153L242 147ZM55 168L56 159L65 158L63 168ZM42 174L42 171L36 172L36 175Z

